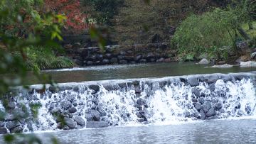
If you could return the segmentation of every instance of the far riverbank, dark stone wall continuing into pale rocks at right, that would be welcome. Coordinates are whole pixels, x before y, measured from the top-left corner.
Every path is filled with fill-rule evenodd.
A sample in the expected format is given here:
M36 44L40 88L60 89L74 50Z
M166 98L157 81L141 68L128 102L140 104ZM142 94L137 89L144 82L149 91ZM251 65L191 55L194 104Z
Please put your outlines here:
M230 64L239 65L240 62L255 60L255 55L249 47L249 43L243 40L237 44L234 52L231 47L223 47L215 54L217 57L203 53L199 55L178 54L177 49L170 48L171 43L147 43L137 45L107 45L104 51L99 47L82 47L80 43L64 45L67 57L70 57L78 66L89 65L118 65L144 62L182 62L200 61L199 64ZM181 59L183 57L183 59ZM184 57L185 60L184 60Z

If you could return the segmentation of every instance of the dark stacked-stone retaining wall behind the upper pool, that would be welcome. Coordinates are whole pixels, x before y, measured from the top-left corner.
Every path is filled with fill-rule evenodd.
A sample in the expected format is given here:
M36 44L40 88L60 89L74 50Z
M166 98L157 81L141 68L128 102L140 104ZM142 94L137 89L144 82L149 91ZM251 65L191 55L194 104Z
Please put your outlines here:
M80 66L161 62L174 56L174 53L166 52L169 43L149 43L130 45L129 47L127 50L119 50L119 45L108 45L104 51L101 51L99 47L81 48L80 43L64 45L68 56L72 57L74 62Z

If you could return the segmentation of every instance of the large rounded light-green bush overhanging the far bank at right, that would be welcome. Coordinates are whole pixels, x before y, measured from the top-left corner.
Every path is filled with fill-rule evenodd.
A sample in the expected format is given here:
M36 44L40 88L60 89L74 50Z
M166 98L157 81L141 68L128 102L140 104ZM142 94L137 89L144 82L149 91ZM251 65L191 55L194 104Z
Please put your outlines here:
M221 47L232 46L237 35L235 21L236 17L232 12L221 9L186 18L173 39L181 60L186 59L183 57L186 55L208 53L215 56Z

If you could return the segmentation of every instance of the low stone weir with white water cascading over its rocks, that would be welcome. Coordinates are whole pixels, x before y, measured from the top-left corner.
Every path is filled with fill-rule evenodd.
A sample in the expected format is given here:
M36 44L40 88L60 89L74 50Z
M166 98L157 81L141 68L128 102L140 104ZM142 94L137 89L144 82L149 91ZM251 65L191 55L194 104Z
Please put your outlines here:
M58 92L48 85L43 93L41 84L15 87L6 94L0 133L254 116L255 77L247 72L63 83Z

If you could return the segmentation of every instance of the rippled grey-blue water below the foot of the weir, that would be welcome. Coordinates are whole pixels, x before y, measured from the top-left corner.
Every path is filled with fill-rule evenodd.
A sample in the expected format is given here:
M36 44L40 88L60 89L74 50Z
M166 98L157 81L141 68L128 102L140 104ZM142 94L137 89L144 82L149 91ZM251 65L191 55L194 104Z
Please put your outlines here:
M256 119L198 121L162 126L131 126L37 134L60 143L256 143Z

